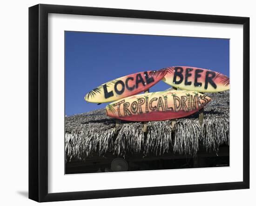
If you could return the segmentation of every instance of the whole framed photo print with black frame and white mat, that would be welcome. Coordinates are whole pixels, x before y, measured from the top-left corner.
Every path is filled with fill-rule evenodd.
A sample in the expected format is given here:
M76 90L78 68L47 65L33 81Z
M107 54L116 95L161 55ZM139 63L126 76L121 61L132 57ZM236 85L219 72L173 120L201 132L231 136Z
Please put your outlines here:
M29 8L29 198L249 188L249 18Z

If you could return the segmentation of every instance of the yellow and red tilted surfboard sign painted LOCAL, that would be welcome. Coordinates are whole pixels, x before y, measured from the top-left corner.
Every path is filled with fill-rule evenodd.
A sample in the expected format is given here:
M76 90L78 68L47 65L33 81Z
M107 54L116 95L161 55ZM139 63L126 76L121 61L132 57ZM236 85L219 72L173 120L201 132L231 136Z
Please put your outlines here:
M85 100L93 103L105 103L120 100L148 90L162 80L167 70L146 71L130 74L98 86L86 94Z

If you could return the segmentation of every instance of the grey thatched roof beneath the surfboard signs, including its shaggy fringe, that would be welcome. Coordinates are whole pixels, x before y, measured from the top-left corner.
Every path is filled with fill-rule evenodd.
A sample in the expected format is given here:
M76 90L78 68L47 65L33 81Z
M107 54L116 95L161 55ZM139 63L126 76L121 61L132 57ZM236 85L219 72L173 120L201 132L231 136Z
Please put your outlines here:
M105 109L65 117L66 160L85 160L93 153L195 155L199 146L217 151L220 145L229 145L229 91L206 95L212 100L204 107L202 126L198 113L176 120L174 128L171 120L148 122L146 133L143 122L121 121L115 127Z

